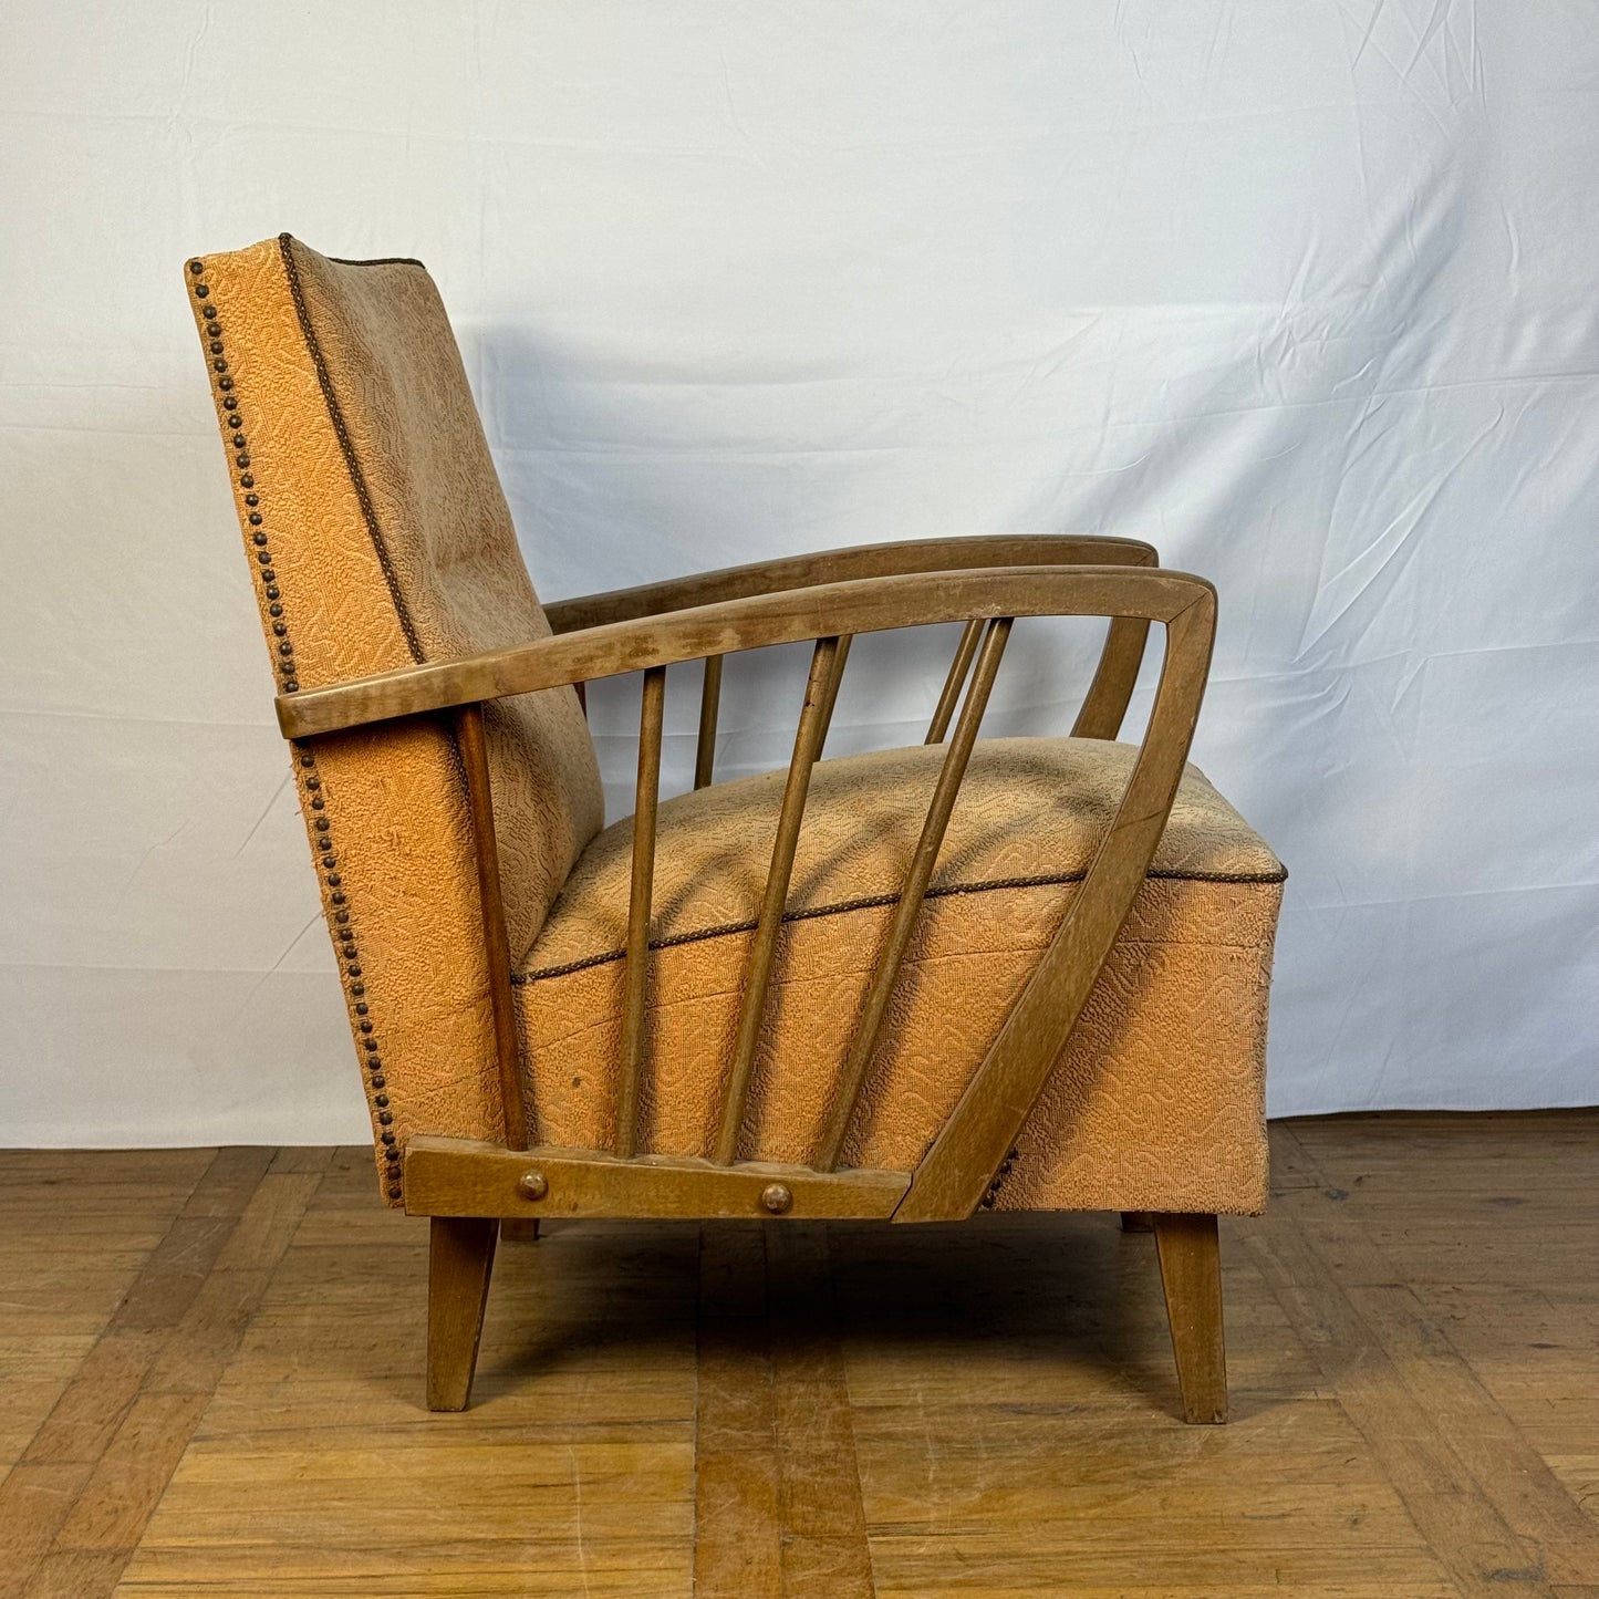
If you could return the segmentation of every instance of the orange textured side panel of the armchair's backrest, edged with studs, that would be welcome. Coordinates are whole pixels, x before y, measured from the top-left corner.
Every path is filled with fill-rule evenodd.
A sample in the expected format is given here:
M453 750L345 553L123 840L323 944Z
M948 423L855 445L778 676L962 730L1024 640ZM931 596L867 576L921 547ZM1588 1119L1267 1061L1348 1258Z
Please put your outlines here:
M409 664L280 246L201 257L185 278L280 688ZM363 1063L377 1169L398 1204L398 1150L409 1132L500 1130L454 744L441 726L424 724L341 734L296 747L293 771Z

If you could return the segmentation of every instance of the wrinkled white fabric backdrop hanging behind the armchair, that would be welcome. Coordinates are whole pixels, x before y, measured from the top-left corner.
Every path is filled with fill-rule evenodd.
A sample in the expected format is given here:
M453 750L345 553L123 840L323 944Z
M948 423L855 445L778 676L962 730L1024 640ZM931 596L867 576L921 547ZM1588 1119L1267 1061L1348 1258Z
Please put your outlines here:
M1273 1111L1599 1099L1596 173L1593 0L8 0L0 1138L366 1134L181 286L285 227L429 262L547 596L1007 529L1210 576ZM862 646L831 747L950 643ZM1027 627L991 728L1091 644ZM787 755L803 665L745 668L724 772Z

